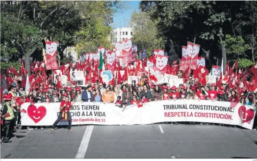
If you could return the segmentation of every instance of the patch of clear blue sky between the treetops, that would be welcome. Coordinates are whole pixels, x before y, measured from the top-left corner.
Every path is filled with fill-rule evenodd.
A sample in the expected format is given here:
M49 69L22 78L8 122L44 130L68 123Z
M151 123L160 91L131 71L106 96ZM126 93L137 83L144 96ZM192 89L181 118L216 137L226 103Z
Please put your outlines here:
M122 2L125 3L126 9L114 15L112 28L128 27L132 10L138 9L140 0L123 0Z

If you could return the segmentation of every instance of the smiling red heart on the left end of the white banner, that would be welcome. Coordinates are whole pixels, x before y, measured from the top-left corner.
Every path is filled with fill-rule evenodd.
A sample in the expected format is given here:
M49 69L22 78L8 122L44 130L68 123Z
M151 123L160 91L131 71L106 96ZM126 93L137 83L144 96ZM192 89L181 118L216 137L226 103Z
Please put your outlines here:
M37 108L34 105L29 105L27 107L27 114L35 123L38 123L47 114L47 109L44 106L40 106Z

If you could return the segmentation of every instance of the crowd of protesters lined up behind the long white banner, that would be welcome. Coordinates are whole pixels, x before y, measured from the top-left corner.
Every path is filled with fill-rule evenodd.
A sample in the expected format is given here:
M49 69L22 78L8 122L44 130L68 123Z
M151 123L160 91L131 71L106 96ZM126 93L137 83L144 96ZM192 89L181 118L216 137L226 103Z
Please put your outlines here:
M88 83L87 86L77 86L72 81L67 81L67 85L56 89L56 84L50 81L48 86L42 83L38 86L31 87L25 93L25 87L21 85L21 81L17 76L13 77L13 83L8 89L8 93L2 96L1 100L1 138L4 136L4 142L9 141L9 134L16 132L21 127L21 111L20 107L24 102L27 103L57 103L64 100L69 102L103 102L114 103L117 107L124 107L138 103L147 103L159 100L211 100L241 103L242 105L250 105L256 107L256 93L242 92L237 93L236 88L230 89L227 84L222 84L220 89L216 84L200 85L195 81L187 81L186 83L176 86L168 86L168 84L149 85L148 79L144 79L140 85L133 80L132 84L115 83L116 85L106 85L102 82ZM117 80L115 80L117 82ZM19 98L19 100L17 99ZM3 117L6 113L11 113L8 117ZM174 124L178 124L174 122ZM180 122L180 124L187 124ZM195 124L195 122L189 122ZM199 123L201 125L214 125L213 123ZM222 126L221 124L218 124ZM224 125L226 126L226 125ZM231 127L231 125L228 125ZM234 128L236 126L233 126ZM44 127L27 127L33 130ZM257 117L254 121L254 130L257 130Z

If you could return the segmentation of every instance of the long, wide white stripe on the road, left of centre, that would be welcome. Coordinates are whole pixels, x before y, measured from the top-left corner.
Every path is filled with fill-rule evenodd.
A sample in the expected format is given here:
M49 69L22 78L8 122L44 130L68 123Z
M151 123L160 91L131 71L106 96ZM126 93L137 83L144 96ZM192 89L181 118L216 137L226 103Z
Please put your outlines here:
M80 142L79 148L77 150L77 155L76 155L75 158L85 158L87 147L88 147L88 144L89 144L89 140L90 140L91 134L93 132L93 128L94 128L94 125L86 127L86 131L85 131L85 133L83 135L83 138Z

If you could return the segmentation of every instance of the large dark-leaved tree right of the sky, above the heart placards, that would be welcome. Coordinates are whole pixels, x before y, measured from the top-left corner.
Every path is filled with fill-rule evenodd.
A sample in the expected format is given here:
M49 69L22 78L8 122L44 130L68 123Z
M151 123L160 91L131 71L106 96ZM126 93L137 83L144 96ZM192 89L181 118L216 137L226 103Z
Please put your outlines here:
M244 6L246 1L153 0L140 3L143 11L150 12L152 19L159 20L159 33L171 39L179 53L182 45L194 41L196 37L196 43L201 45L201 54L206 56L209 66L212 65L211 57L220 55L216 54L220 49L224 62L227 62L223 39L227 34L233 35L231 24Z

